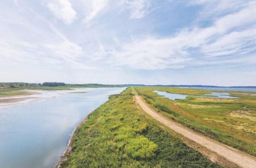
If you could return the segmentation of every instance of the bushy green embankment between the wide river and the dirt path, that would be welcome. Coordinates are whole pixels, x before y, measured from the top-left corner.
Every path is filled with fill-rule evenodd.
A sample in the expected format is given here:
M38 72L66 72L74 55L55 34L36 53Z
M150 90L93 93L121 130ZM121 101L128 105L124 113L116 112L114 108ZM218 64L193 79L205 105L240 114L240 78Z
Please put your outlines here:
M132 100L128 88L93 111L74 132L61 167L220 167L161 129Z

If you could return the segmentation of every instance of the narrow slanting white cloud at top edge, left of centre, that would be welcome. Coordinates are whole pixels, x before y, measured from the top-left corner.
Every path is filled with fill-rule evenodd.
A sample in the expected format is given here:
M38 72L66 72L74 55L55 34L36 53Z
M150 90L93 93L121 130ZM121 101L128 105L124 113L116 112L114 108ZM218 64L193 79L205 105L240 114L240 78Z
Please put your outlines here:
M88 23L90 20L92 20L94 17L97 16L97 14L103 10L103 8L106 6L107 0L92 0L92 4L90 6L90 12L85 18L85 22Z

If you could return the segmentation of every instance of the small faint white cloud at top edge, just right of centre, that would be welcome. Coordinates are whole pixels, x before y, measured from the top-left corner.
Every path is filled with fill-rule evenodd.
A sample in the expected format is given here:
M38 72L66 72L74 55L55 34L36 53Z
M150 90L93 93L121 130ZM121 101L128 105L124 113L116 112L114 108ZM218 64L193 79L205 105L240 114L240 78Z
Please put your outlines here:
M131 19L143 18L149 12L150 1L149 0L128 0L126 3L131 10Z

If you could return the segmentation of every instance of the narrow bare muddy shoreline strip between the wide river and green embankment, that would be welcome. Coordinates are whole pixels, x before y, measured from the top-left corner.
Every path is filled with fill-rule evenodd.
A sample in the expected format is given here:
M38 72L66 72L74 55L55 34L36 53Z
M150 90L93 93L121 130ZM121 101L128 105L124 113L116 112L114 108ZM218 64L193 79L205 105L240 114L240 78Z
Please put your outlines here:
M93 111L92 111L93 112ZM91 113L92 113L91 112ZM74 131L72 132L70 139L68 140L68 146L66 147L66 150L63 152L62 156L60 156L60 159L58 160L58 162L56 162L56 164L54 164L53 168L60 168L60 164L62 164L62 162L66 159L65 156L69 155L72 152L72 147L71 147L71 141L74 139L74 133L76 132L76 130L84 123L86 123L88 116L91 114L89 113L84 119L82 119L82 121L80 121L80 123L78 123L78 125L75 127Z

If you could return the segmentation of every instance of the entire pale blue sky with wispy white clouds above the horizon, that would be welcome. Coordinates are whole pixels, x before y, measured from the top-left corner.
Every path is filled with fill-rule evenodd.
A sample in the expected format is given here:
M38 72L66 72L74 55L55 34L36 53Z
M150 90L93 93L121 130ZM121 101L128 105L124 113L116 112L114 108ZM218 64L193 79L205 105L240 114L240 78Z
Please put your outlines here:
M0 82L256 86L256 0L2 0Z

